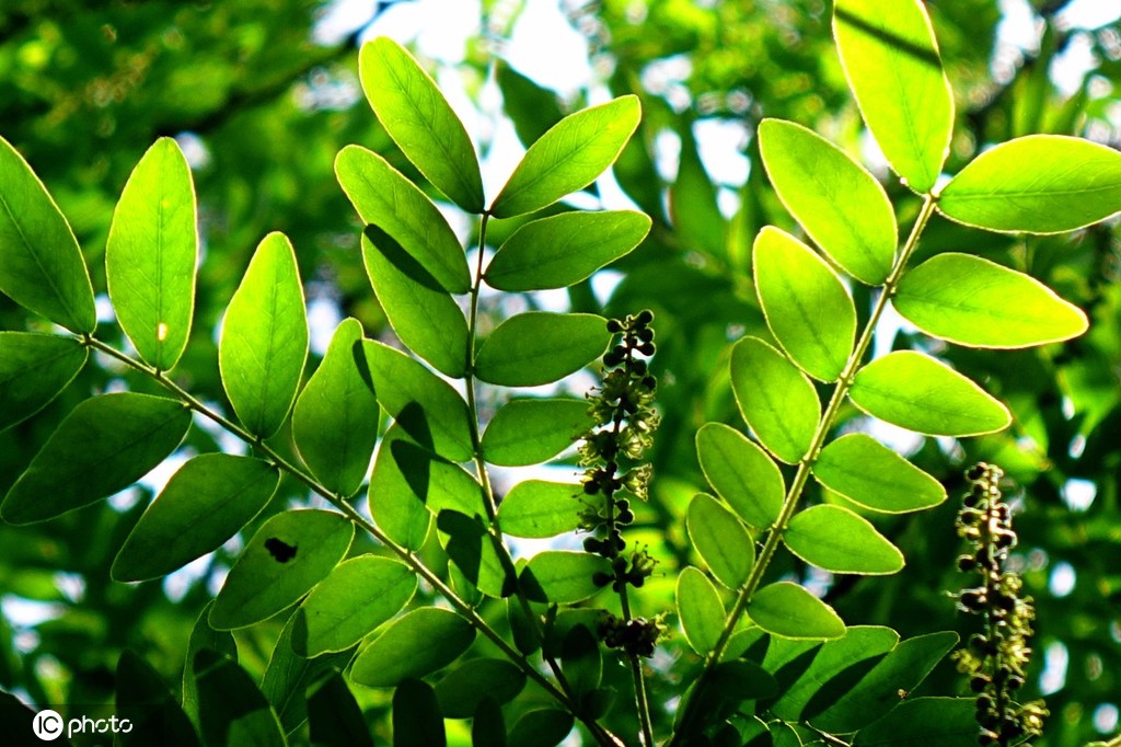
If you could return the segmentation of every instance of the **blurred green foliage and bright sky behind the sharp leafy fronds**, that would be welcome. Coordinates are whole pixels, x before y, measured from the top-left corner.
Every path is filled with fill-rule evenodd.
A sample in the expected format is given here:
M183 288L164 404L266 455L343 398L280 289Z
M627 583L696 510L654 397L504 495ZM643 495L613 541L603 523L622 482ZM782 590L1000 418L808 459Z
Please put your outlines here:
M984 146L1029 132L1121 147L1121 13L1111 4L927 2L957 99L951 173ZM540 16L541 6L549 6L555 25L538 30L536 67L519 70L507 52L524 30L519 25ZM332 167L342 146L359 142L409 170L362 100L356 45L379 33L423 42L464 12L474 15L475 26L461 34L458 46L433 55L429 40L420 45L421 59L453 92L481 155L501 172L499 183L512 166L502 160L509 162L511 148L517 158L515 137L527 141L564 112L609 94L642 100L643 122L614 168L614 182L601 181L574 202L632 201L654 218L649 239L567 298L529 294L516 302L578 311L605 304L614 315L649 307L657 315L663 425L654 496L632 537L661 559L664 573L638 601L640 614L654 615L671 607L676 569L691 557L683 511L703 485L693 435L707 421L739 425L725 370L729 343L744 333L767 335L752 289L751 241L768 223L796 230L756 166L757 123L763 117L791 119L863 158L882 177L905 229L918 206L862 129L832 45L826 0L565 0L559 7L553 0L6 0L0 135L25 155L71 220L102 294L105 237L128 174L158 136L179 140L198 193L203 262L193 338L175 377L224 407L215 329L268 231L286 232L296 246L313 329L330 331L353 315L369 335L391 335L359 260L356 216ZM575 62L562 54L562 40L575 45ZM576 65L586 74L556 91L547 75L534 73L549 65ZM492 246L515 227L502 223L492 224ZM470 240L470 224L453 224ZM1038 611L1025 699L1041 693L1053 713L1038 744L1081 745L1114 732L1121 704L1118 221L1069 236L1017 237L935 219L919 252L961 249L1048 283L1086 310L1091 331L1065 345L993 352L946 348L906 325L884 328L879 350L915 347L943 356L1008 403L1016 423L1006 433L961 442L874 427L952 496L917 517L873 519L904 550L907 569L887 579L835 581L787 559L772 572L808 582L849 624L889 625L905 636L967 634L971 620L946 596L965 580L954 568L954 499L964 467L979 459L1001 464L1016 485L1015 561ZM854 293L867 314L867 290ZM495 304L489 310L494 315L512 311ZM0 298L0 329L44 324ZM99 333L127 344L113 339L119 333L110 324ZM151 387L108 359L93 363L45 413L0 434L0 490L90 391ZM870 426L860 413L845 413L843 428ZM288 436L275 441L284 446ZM195 427L185 448L231 446L214 431ZM163 583L111 582L112 557L166 477L152 476L108 502L47 524L0 527L0 688L37 703L110 702L126 647L169 684L177 681L191 627L240 544L231 541ZM276 507L304 499L298 486L286 483ZM817 494L812 499L841 500ZM263 670L279 625L240 635L241 661L251 672ZM651 664L665 674L652 679L652 700L661 704L695 666L682 655L679 637ZM944 663L924 691L965 689ZM385 698L361 697L371 713L385 714ZM656 718L665 732L671 716L659 709ZM386 728L385 718L379 723ZM619 728L631 727L624 721Z

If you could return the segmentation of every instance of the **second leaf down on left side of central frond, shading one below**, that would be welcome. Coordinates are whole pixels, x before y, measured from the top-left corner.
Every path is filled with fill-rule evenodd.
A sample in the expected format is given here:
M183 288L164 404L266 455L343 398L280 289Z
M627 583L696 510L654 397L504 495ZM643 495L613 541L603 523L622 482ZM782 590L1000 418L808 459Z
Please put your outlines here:
M346 146L335 175L358 214L377 225L448 293L471 289L467 259L452 227L432 200L378 154Z

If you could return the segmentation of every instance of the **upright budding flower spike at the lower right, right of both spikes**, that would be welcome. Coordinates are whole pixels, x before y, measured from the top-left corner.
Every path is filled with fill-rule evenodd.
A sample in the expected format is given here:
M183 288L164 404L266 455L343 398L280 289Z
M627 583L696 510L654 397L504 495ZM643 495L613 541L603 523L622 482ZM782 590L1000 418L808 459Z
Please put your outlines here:
M1021 596L1020 578L1004 570L1016 533L1009 505L1001 499L1003 476L999 467L983 462L965 472L970 489L958 513L957 534L973 550L957 559L957 568L978 573L981 583L958 593L957 607L983 616L985 630L954 653L958 671L969 675L970 689L978 693L978 741L1002 747L1039 736L1047 717L1043 701L1020 704L1013 697L1023 686L1031 657L1028 640L1035 610L1031 598Z

